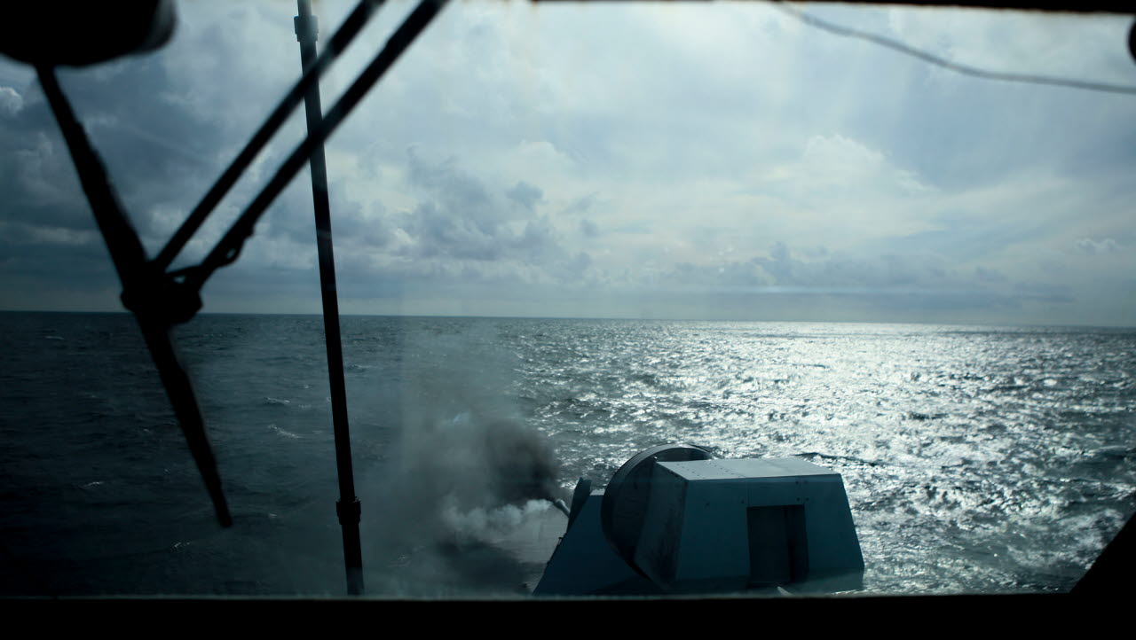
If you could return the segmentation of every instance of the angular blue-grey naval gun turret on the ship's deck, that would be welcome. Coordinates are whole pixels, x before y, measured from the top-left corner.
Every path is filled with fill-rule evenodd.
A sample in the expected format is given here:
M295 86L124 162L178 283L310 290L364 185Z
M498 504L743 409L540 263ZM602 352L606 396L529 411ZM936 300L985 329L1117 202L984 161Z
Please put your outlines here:
M859 589L863 567L838 473L661 445L605 489L580 479L534 593L833 592Z

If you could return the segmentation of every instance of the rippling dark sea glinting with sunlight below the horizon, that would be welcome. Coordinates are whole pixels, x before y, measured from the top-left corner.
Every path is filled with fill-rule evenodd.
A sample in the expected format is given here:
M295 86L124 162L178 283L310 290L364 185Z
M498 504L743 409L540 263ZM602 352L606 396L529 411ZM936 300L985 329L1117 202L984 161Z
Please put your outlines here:
M342 326L370 596L525 597L526 536L563 519L534 481L602 487L670 441L840 472L867 593L1064 591L1136 510L1133 329ZM0 595L343 595L321 319L175 340L231 529L130 315L0 313Z

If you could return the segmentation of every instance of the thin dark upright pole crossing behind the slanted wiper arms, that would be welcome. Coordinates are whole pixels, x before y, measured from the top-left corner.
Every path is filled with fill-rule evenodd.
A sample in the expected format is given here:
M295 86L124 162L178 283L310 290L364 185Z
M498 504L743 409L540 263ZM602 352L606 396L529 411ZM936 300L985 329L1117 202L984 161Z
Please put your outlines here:
M307 70L316 60L316 18L310 0L296 0L295 37L300 42L300 60ZM308 112L308 134L320 130L324 110L319 103L319 83L311 83L303 95ZM311 197L316 210L316 246L319 251L319 284L324 297L324 335L327 342L327 378L332 386L332 426L335 431L335 465L340 474L340 499L335 512L343 529L343 561L346 566L348 593L360 596L362 550L359 542L359 498L354 494L351 471L351 435L348 429L348 396L343 382L343 345L340 340L340 304L335 290L335 254L332 250L332 216L327 199L327 162L324 145L311 152Z

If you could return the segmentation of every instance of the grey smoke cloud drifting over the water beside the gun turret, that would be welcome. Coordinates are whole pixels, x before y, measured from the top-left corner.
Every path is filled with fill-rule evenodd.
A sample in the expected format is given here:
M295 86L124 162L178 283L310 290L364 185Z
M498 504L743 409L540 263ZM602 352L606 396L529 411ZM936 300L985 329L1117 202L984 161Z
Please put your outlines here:
M389 396L396 441L360 474L368 581L384 592L519 595L548 559L518 548L532 546L537 521L563 520L549 511L566 497L560 462L508 399L512 368L496 340L462 331L403 345L412 364Z

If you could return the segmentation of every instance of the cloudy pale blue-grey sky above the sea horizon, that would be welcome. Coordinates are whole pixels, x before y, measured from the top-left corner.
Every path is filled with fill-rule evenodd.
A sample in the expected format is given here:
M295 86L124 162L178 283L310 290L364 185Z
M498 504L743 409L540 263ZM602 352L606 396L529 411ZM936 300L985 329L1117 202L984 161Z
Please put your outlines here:
M315 2L320 42L352 3ZM1130 17L808 5L984 69L1136 86ZM325 109L412 8L384 7ZM152 254L299 76L286 1L60 70ZM302 138L302 109L176 266ZM454 2L327 145L344 313L1136 326L1136 95L979 79L757 3ZM307 170L206 312L320 309ZM120 310L0 57L0 309Z

